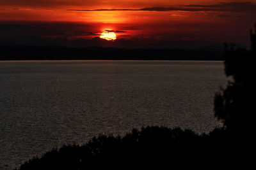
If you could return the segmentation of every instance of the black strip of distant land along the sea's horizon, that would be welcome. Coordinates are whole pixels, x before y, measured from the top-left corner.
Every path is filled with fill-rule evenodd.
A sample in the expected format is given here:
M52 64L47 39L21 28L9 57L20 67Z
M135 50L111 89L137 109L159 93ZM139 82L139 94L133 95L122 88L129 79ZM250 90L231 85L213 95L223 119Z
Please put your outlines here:
M0 60L224 60L223 49L0 46Z

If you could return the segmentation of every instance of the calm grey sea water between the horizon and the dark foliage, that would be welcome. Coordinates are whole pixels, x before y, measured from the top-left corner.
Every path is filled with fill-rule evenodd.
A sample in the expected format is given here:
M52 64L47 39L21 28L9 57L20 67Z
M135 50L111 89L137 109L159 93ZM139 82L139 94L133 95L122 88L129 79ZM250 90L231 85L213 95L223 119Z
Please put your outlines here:
M0 62L0 169L64 143L147 125L209 132L216 61Z

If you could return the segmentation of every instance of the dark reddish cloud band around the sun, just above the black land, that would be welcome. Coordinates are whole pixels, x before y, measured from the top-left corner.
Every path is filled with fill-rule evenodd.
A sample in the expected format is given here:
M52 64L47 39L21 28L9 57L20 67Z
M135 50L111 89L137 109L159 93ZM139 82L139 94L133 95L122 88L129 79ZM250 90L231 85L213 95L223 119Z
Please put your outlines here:
M220 16L220 17L225 17ZM195 46L221 46L224 41L248 44L248 28L253 24L246 22L223 25L207 23L173 23L165 25L119 25L116 29L95 29L97 25L72 22L0 22L1 45L55 45L55 46L115 46L127 48L179 48ZM243 25L243 26L241 26ZM154 27L154 29L151 29ZM170 28L161 30L159 27ZM176 31L172 31L172 28ZM189 28L189 29L188 29ZM232 28L232 29L230 29ZM136 32L138 29L142 32ZM159 31L159 30L161 31ZM102 41L102 31L116 32L115 43ZM129 35L129 31L134 33ZM237 33L238 32L238 33ZM123 36L122 36L123 35Z

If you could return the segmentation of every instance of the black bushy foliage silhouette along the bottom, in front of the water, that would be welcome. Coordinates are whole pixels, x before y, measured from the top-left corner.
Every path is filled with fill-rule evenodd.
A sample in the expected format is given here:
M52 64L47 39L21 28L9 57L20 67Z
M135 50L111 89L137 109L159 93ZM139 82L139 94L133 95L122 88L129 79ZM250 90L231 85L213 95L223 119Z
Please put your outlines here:
M125 169L157 165L201 167L202 162L214 164L214 155L219 155L224 148L227 150L228 140L225 138L225 129L198 135L188 129L143 127L124 137L100 135L83 146L73 144L62 146L60 150L54 148L42 158L35 157L22 164L20 170Z

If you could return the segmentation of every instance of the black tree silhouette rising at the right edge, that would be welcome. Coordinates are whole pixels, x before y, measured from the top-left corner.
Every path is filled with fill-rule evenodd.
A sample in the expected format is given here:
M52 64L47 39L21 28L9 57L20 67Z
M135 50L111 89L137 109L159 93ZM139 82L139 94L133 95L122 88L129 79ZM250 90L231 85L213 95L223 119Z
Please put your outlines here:
M256 32L256 25L255 25ZM214 99L215 117L223 121L234 141L252 141L255 129L255 64L256 34L251 31L252 50L225 44L225 74L232 77L226 89L221 89Z

